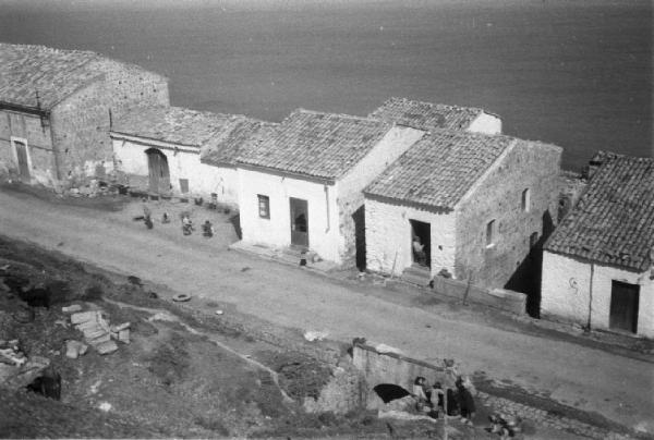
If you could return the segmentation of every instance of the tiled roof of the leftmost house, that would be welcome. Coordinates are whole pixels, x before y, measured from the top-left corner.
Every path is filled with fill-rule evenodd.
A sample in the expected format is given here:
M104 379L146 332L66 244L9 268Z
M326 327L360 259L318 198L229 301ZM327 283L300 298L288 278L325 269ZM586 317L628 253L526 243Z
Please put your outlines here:
M49 110L102 73L86 64L101 58L78 50L0 44L0 101ZM38 91L38 102L36 94Z

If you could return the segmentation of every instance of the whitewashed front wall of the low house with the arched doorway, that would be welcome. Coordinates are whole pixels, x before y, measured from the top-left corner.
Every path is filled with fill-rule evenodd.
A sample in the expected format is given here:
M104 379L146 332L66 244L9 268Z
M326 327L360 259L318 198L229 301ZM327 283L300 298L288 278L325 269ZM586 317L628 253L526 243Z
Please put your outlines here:
M126 174L147 178L148 163L145 150L149 148L157 148L166 156L170 184L175 193L181 192L180 179L187 179L191 195L208 199L211 193L216 193L221 203L238 203L237 170L202 163L199 150L189 151L190 147L180 146L180 149L175 151L173 148L166 148L161 145L144 145L114 138L113 156L118 170Z

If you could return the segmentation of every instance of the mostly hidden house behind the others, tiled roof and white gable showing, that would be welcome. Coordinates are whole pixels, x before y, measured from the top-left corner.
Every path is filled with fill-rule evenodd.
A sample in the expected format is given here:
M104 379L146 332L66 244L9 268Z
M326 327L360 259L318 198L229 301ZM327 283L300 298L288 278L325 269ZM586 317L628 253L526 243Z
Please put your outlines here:
M446 129L473 133L500 134L501 119L473 107L446 106L390 98L368 118L429 132Z

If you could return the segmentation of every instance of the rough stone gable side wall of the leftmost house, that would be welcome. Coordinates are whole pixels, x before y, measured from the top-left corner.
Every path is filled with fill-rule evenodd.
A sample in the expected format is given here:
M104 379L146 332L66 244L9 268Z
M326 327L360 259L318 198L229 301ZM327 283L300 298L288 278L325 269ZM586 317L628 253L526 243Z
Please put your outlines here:
M137 106L169 105L167 80L118 61L92 64L104 77L77 90L52 110L60 179L94 175L113 167L110 115L116 120Z

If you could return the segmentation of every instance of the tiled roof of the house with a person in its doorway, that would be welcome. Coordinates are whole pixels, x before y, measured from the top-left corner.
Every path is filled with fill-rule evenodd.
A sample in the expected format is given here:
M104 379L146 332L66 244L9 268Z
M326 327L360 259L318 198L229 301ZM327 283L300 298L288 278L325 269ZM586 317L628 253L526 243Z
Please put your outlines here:
M435 130L390 164L364 193L437 208L457 203L513 143L509 136Z

